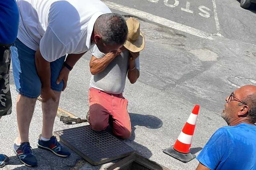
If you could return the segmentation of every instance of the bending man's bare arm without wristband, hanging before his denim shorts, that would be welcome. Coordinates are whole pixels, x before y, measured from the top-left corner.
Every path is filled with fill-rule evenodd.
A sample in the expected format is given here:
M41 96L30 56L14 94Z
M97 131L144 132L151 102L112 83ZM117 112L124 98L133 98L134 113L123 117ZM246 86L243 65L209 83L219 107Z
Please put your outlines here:
M41 98L42 102L46 102L49 99L56 101L54 91L51 89L51 67L50 62L46 61L39 48L35 53L36 71L42 83Z

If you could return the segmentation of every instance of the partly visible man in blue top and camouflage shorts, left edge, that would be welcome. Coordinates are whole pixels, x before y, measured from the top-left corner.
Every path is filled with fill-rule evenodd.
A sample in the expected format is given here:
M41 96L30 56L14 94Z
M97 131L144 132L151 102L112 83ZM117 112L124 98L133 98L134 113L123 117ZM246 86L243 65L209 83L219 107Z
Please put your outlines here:
M0 119L12 112L9 84L10 46L18 34L19 17L15 0L0 0ZM8 161L9 158L6 155L0 154L0 168L4 167Z

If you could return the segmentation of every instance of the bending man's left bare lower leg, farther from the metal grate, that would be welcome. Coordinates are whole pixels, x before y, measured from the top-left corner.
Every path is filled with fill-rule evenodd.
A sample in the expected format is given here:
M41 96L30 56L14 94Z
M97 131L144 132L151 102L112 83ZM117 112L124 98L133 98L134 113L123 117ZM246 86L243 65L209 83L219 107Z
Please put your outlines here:
M16 143L28 142L29 126L33 116L36 99L18 95L16 103L19 136Z

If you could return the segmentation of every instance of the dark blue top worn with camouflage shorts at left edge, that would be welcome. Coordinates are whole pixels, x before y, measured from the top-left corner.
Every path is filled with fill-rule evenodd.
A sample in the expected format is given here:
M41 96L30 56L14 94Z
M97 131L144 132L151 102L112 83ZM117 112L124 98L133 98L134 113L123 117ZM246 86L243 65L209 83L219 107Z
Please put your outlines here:
M0 0L0 43L16 40L19 27L19 9L15 0Z

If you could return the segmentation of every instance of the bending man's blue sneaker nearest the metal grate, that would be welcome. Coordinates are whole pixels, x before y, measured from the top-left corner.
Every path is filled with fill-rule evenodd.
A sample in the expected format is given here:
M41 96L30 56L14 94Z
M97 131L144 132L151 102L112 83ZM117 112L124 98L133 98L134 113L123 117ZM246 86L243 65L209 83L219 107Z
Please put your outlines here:
M40 140L39 137L37 146L38 148L51 151L57 156L67 157L70 155L68 149L58 142L56 136L52 136L51 139L48 141Z

